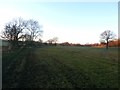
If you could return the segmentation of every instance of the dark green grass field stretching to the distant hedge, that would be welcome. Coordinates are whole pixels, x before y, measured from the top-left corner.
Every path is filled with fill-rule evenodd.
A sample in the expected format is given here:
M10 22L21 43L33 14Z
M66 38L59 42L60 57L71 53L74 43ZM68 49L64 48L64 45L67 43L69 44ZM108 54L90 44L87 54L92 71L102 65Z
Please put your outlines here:
M2 63L3 88L118 88L117 48L27 48Z

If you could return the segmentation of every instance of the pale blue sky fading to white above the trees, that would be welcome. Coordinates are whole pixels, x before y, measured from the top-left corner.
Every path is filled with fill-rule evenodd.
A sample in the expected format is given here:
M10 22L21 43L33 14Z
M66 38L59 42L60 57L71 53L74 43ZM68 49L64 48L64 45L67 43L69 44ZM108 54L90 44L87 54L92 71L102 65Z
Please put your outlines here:
M105 30L118 36L118 2L100 1L3 0L0 1L0 30L13 18L22 17L39 22L43 41L58 37L58 42L99 43Z

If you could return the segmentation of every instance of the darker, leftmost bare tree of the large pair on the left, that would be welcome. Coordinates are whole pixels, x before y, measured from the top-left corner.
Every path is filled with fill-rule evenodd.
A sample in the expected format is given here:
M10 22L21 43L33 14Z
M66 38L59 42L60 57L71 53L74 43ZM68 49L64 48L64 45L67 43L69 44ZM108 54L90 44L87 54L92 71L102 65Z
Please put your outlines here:
M25 28L25 22L22 18L14 19L5 25L2 38L10 41L18 41L19 34Z

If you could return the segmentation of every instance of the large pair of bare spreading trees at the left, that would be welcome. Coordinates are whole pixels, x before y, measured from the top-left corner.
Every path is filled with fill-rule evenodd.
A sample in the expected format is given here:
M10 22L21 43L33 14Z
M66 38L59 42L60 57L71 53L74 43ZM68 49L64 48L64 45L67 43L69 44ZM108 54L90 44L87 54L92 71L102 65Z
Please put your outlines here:
M42 31L40 29L38 21L17 18L5 25L1 37L8 40L12 45L17 45L19 39L33 41L41 36Z

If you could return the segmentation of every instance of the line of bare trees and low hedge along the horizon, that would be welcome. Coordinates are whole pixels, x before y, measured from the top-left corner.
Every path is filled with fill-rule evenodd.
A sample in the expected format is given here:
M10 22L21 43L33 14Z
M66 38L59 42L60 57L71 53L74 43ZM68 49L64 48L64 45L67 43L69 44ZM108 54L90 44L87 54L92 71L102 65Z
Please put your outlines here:
M1 37L5 40L8 40L8 42L10 43L9 46L11 47L18 47L19 41L22 42L25 41L27 42L25 44L27 45L30 44L34 46L33 42L36 39L39 39L40 43L43 42L40 39L42 32L43 31L41 30L41 26L39 25L38 21L33 19L24 20L22 18L16 18L5 25ZM100 42L101 44L106 45L106 49L108 49L108 47L110 46L109 42L111 43L111 41L115 39L115 36L116 35L112 31L106 30L100 34L100 39L101 39ZM52 39L47 40L46 43L48 43L48 45L57 45L57 41L58 38L54 37ZM69 44L68 42L61 43L60 45L82 46L80 44ZM88 46L94 46L94 45L88 45Z

